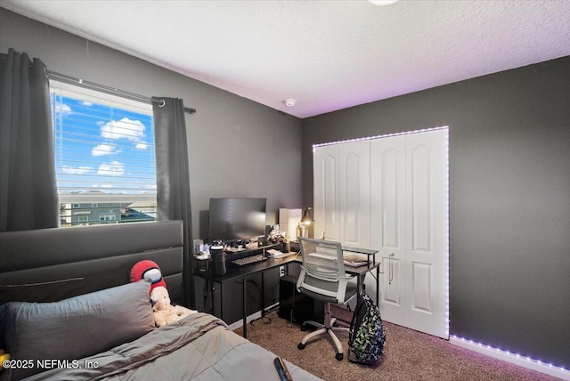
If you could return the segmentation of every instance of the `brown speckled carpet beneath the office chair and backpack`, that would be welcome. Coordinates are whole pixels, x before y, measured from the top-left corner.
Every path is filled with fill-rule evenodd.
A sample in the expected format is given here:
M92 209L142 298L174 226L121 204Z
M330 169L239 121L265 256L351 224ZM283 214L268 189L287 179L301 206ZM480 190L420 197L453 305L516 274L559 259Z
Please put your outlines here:
M350 321L350 312L333 307L333 316ZM343 324L342 322L340 323ZM345 360L337 361L330 340L320 338L297 344L307 332L270 312L264 320L248 325L248 340L327 381L336 380L558 380L508 362L451 345L438 337L419 333L388 322L384 323L387 344L379 363L365 367L348 360L348 334L338 338L345 347ZM241 335L238 328L236 333ZM324 337L324 336L322 336Z

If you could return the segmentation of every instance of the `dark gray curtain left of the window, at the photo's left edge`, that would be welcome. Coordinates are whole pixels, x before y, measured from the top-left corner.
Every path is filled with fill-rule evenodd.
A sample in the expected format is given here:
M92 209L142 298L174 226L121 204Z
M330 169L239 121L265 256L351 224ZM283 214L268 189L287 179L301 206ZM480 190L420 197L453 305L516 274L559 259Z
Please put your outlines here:
M0 231L58 226L53 128L45 65L0 54Z

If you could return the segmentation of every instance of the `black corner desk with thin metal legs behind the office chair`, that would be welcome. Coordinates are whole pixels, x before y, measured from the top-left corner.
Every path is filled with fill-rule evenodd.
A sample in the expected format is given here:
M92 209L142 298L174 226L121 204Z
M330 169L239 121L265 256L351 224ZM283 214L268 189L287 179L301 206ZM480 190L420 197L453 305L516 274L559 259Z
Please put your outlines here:
M352 251L352 250L351 250ZM221 290L220 292L223 294L224 293L224 284L228 283L228 282L232 282L235 280L241 280L241 284L242 284L242 298L243 298L243 304L242 304L242 320L243 320L243 336L244 337L248 337L248 310L247 310L247 291L246 291L246 286L247 286L247 280L246 278L248 277L248 275L252 275L252 274L256 274L257 272L261 273L261 277L262 277L262 281L261 281L261 288L262 288L262 296L265 295L265 289L264 289L264 272L270 269L273 269L275 267L279 267L279 266L283 266L283 265L287 265L289 263L302 263L303 260L301 258L300 254L293 254L293 255L288 255L288 256L284 256L281 258L269 258L266 259L263 262L259 262L259 263L251 263L251 264L246 264L243 266L234 266L231 264L228 264L227 266L227 272L225 272L224 275L216 275L216 274L209 274L205 273L205 272L194 272L194 275L200 277L200 278L204 278L205 280L207 280L208 282L216 282L220 284ZM378 293L378 289L379 289L379 263L377 263L376 261L373 261L372 263L368 263L368 264L363 264L362 266L359 267L353 267L353 266L345 266L345 271L351 275L356 275L357 276L357 285L358 285L358 295L360 297L360 293L361 291L364 289L364 276L366 275L367 272L371 272L372 270L376 269L376 301L378 304L379 301L379 293ZM212 292L212 299L214 299L214 293ZM214 301L212 300L212 312L214 312ZM223 316L223 309L224 309L224 304L221 304L221 309L222 311L220 311L220 316ZM265 308L262 305L262 309L261 309L261 313L262 316L265 313ZM214 313L213 313L214 314Z

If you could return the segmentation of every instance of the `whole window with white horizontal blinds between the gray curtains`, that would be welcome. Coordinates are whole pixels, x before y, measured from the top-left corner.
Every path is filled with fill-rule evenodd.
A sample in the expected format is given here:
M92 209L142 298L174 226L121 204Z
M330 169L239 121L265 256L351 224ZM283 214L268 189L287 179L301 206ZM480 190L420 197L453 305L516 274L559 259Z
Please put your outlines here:
M51 81L61 226L156 219L150 104Z

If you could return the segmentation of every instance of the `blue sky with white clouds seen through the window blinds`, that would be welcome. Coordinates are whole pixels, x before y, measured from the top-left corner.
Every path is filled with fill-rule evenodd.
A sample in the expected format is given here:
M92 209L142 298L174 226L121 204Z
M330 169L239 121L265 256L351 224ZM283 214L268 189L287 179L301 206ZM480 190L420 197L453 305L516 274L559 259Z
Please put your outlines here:
M151 115L58 93L52 102L60 192L156 193Z

